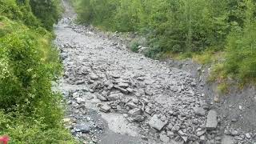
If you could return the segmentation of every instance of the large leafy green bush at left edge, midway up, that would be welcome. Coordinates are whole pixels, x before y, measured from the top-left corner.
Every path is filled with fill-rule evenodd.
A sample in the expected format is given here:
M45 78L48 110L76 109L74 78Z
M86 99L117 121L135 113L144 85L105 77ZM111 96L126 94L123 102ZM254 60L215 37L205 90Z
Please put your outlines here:
M22 30L1 38L0 103L6 109L30 104L50 94L50 78L42 63L36 38ZM48 90L47 90L48 89Z

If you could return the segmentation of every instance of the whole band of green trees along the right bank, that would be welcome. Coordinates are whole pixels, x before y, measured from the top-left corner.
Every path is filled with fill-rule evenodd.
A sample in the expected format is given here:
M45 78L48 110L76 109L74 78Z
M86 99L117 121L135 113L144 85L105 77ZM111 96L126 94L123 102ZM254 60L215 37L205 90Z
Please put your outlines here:
M202 63L221 59L222 70L216 78L234 77L240 82L256 78L255 0L72 2L79 22L103 30L142 34L150 46L146 56L182 55Z

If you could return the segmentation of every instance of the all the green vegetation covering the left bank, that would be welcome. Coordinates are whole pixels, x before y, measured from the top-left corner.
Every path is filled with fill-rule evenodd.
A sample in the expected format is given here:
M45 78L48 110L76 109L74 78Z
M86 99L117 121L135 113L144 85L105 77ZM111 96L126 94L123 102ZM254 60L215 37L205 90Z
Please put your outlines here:
M0 135L15 144L75 143L62 123L61 95L51 90L62 70L48 31L58 17L42 23L49 15L34 14L30 2L0 2Z

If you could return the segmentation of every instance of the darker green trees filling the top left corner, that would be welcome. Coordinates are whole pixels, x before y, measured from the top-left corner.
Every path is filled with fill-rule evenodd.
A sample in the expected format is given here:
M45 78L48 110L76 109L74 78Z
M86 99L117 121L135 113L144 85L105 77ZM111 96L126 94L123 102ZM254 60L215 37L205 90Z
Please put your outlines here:
M59 0L5 0L0 1L0 15L22 21L26 26L43 26L52 30L61 14Z

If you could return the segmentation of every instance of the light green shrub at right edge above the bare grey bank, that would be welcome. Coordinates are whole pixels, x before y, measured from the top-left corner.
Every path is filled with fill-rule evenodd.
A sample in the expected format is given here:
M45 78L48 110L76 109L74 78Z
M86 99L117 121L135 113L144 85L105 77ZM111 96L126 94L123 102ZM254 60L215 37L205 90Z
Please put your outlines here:
M234 29L227 39L224 66L226 74L248 82L256 80L256 6L254 2L247 1L244 8L246 19L243 29Z

